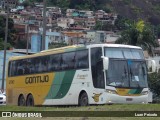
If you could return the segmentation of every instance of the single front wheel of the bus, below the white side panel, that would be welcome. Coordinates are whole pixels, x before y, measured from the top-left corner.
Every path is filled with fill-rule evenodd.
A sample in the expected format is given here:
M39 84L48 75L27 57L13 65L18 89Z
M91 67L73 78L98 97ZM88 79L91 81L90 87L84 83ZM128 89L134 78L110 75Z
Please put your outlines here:
M87 106L88 105L88 96L86 92L80 94L79 97L79 106Z

